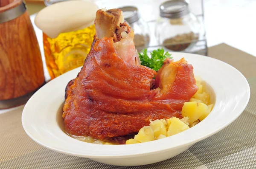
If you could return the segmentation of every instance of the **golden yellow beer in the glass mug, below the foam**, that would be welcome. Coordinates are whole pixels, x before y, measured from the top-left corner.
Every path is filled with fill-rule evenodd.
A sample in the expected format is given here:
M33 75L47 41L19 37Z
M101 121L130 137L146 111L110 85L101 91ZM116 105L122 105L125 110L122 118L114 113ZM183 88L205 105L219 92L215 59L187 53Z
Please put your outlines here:
M56 38L43 33L44 55L51 79L84 64L94 35L94 25L61 33Z

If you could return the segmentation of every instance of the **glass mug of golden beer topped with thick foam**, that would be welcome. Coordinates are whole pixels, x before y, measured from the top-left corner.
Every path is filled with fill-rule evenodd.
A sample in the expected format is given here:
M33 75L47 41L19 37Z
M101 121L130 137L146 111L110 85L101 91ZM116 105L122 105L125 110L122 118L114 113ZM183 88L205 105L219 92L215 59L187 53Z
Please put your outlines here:
M89 0L71 0L47 6L37 14L35 24L43 31L51 79L84 64L95 35L97 10Z

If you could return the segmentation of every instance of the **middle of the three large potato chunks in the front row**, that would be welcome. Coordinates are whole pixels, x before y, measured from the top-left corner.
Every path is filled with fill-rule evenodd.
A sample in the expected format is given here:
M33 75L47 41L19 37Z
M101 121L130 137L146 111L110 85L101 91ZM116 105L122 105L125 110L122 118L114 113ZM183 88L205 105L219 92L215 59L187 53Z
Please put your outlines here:
M151 121L149 124L149 126L154 132L155 138L157 138L159 135L166 135L167 125L168 125L167 122L163 119Z

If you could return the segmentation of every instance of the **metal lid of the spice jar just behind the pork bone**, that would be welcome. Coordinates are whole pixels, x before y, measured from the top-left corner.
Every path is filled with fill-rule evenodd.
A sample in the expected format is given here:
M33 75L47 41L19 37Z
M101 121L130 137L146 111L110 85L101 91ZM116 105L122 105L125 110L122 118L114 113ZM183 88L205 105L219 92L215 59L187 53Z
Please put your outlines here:
M119 8L123 11L124 19L129 23L132 24L140 19L138 8L135 6L124 6Z

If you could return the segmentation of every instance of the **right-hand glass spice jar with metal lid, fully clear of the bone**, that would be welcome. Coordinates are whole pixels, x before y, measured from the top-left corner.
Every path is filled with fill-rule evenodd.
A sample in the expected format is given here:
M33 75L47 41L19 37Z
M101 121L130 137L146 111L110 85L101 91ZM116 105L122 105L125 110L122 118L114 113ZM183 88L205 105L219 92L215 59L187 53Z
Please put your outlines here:
M171 51L189 51L199 39L201 24L185 0L169 0L160 5L156 37Z

